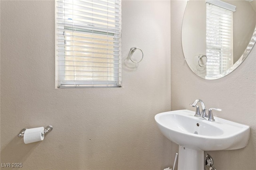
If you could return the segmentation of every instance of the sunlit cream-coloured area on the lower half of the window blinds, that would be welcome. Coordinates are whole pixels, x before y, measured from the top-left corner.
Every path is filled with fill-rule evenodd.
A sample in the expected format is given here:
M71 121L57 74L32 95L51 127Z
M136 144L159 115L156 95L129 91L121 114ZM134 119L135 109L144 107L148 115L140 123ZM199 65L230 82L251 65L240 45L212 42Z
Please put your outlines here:
M66 31L66 36L66 80L114 81L113 36L71 31Z

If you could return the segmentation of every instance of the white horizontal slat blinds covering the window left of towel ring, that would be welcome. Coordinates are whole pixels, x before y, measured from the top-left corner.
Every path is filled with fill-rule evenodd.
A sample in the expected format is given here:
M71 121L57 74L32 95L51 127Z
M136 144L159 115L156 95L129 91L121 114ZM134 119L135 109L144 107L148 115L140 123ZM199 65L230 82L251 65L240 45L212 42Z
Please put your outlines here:
M56 0L59 88L121 86L121 0Z

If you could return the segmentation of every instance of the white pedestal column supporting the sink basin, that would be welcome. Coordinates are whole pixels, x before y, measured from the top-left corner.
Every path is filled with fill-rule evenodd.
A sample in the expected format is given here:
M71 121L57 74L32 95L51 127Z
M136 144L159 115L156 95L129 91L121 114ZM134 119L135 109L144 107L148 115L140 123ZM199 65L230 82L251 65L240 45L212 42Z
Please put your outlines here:
M204 151L179 146L178 170L204 170Z

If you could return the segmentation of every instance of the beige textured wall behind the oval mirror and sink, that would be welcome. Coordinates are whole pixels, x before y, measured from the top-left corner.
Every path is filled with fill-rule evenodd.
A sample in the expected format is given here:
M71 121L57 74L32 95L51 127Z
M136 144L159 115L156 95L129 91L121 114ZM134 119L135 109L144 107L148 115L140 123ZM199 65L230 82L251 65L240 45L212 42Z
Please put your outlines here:
M196 76L184 61L181 27L186 1L171 1L171 108L190 109L195 99L206 107L221 108L215 116L250 126L246 148L211 151L214 166L220 170L255 170L256 167L256 47L248 58L229 75L217 80ZM203 144L202 144L203 145ZM172 155L178 145L172 144ZM172 156L173 158L173 156Z

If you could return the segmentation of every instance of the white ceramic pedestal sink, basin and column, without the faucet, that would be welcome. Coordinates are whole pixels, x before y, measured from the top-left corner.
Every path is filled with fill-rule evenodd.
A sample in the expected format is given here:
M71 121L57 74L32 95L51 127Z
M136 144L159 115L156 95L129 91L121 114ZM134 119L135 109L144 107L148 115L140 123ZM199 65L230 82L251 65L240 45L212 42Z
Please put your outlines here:
M156 123L162 134L180 145L178 170L204 170L204 151L246 147L250 127L218 117L207 121L190 110L159 113Z

